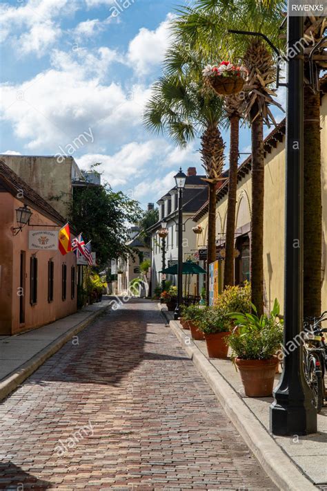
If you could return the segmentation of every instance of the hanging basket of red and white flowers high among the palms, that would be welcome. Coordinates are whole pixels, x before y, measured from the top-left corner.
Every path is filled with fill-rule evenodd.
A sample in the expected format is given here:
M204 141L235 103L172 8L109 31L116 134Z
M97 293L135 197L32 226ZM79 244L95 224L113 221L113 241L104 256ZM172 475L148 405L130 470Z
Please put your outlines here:
M221 62L218 66L207 65L204 68L203 75L217 94L231 95L237 94L243 89L248 71L244 66Z

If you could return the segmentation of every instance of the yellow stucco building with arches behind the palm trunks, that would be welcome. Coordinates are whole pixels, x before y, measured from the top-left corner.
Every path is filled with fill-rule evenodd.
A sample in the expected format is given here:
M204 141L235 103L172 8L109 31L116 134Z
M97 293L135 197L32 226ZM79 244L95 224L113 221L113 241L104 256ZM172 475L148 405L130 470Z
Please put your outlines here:
M327 310L327 95L321 98L321 186L323 248L321 258L321 307ZM277 298L284 304L284 224L285 224L285 122L281 122L265 140L264 191L264 302L272 308ZM239 166L237 210L235 220L235 248L240 252L235 259L235 282L241 283L250 275L250 216L251 216L250 157ZM224 244L228 183L217 191L216 234L217 246ZM197 235L197 249L206 248L208 241L208 203L193 217L203 232ZM224 274L224 260L221 261Z

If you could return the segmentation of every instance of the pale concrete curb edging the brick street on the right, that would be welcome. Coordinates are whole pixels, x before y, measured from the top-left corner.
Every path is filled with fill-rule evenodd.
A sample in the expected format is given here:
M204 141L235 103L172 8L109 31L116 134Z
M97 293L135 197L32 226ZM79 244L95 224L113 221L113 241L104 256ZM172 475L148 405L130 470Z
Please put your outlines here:
M261 467L263 467L277 487L283 491L317 491L312 481L299 470L292 459L279 447L235 390L230 387L219 371L210 364L206 356L190 340L190 337L179 328L177 322L168 319L163 310L161 310L161 313L164 315L166 322L169 323L181 346L190 356L195 367L210 385L237 431L244 438Z

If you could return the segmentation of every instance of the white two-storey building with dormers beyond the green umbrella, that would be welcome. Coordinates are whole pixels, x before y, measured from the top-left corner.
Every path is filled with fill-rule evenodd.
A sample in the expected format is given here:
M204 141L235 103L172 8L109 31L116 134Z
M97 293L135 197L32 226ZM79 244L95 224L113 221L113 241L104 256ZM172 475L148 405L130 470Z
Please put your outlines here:
M192 231L195 223L192 221L192 216L204 203L208 200L208 187L206 182L201 178L206 176L197 176L197 169L189 167L186 178L186 185L183 191L183 261L187 259L197 260L195 253L197 252L196 244L197 237ZM161 222L167 223L168 235L166 237L166 267L177 263L178 247L177 247L177 220L178 220L178 192L177 187L173 187L167 194L162 196L157 201L159 206L159 221L148 229L151 233L151 295L155 294L155 288L161 285L162 270L162 239L158 235L161 228ZM172 284L177 284L176 276L166 278L172 281ZM197 285L197 277L192 278L190 286L190 295L195 295L195 287Z

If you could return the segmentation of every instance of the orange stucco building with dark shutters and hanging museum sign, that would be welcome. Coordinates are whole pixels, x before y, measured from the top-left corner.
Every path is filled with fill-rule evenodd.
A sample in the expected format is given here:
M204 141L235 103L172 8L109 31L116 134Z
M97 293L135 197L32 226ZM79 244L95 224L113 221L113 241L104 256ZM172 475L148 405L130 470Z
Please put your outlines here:
M19 231L16 210L24 205L32 216ZM0 335L28 331L77 311L76 256L63 256L53 247L63 225L63 217L0 160ZM32 248L29 232L43 230L50 233L42 241L48 243L52 235L52 248Z

